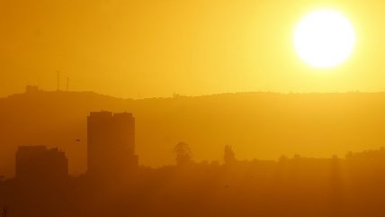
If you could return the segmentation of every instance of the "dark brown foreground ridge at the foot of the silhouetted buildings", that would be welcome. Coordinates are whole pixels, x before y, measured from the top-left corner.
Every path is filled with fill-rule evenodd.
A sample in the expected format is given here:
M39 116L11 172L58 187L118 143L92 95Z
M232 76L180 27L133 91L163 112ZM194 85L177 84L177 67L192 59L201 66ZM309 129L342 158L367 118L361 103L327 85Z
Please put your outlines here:
M346 158L238 161L231 156L225 154L225 164L182 160L157 169L131 167L119 176L16 176L0 182L0 205L9 216L20 217L385 214L384 149Z

